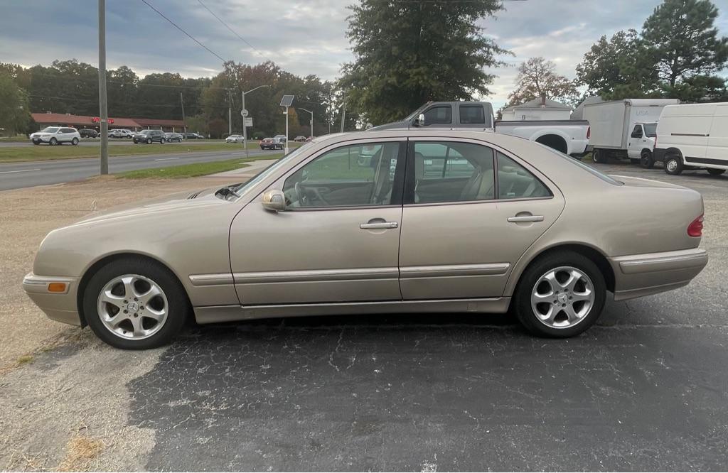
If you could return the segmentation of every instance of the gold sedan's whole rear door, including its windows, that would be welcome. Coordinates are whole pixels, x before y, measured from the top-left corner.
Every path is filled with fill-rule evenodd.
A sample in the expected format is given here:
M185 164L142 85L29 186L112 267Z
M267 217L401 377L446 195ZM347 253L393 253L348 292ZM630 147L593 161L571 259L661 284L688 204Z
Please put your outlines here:
M536 170L475 142L409 146L403 298L501 296L515 263L561 214L561 192Z

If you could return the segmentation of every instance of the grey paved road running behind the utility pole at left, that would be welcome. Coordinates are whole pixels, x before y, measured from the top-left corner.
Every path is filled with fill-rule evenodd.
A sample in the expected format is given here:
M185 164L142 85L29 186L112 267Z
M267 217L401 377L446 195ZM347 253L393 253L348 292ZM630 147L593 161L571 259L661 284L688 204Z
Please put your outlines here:
M167 146L167 145L165 145ZM280 151L248 151L249 156L265 156ZM139 156L112 156L108 159L108 170L111 173L165 167L196 162L223 161L225 159L244 158L245 151L231 148L230 151L203 151L199 153L179 154L143 154ZM82 180L98 175L99 159L58 159L55 161L35 161L23 163L0 164L0 191L31 186L43 186Z

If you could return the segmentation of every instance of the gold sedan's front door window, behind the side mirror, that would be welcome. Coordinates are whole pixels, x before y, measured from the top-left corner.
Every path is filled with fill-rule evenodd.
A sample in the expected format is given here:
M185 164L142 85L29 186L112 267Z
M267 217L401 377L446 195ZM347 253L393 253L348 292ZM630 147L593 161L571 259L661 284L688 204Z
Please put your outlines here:
M288 206L389 205L397 195L395 170L400 143L366 143L327 151L283 184Z

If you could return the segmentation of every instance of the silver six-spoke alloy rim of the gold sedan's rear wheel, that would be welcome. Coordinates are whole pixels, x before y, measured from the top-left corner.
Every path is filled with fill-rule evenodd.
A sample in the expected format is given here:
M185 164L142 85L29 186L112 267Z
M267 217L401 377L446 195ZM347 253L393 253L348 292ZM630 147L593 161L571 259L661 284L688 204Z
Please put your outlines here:
M589 314L594 301L593 282L584 271L572 266L547 271L531 290L531 310L547 327L577 325Z

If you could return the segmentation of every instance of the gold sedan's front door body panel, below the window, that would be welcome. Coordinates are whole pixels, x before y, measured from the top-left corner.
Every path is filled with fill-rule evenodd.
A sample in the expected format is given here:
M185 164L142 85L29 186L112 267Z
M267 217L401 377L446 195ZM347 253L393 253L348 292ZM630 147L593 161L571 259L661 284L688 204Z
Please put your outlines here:
M230 233L240 303L395 301L402 207L269 212L251 202Z

